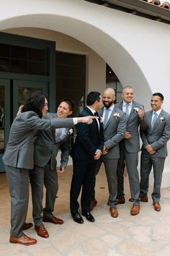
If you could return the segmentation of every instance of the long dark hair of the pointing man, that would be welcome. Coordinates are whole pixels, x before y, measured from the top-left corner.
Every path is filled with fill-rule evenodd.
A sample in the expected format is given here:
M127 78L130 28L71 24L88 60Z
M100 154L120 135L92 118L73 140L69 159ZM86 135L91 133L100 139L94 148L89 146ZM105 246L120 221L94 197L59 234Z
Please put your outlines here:
M42 116L42 108L44 108L45 104L45 94L37 91L32 93L29 98L24 103L22 108L22 112L26 111L34 111L38 116Z

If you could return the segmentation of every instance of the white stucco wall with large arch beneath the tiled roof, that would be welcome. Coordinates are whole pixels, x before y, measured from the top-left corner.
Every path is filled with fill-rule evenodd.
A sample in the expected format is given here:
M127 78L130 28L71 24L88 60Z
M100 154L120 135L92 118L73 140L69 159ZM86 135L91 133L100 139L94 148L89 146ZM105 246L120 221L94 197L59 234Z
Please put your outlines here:
M170 112L169 25L82 0L6 0L0 3L0 30L39 27L70 35L99 54L123 86L132 85L135 100L143 103L146 110L151 94L159 91L165 96L164 109ZM99 70L89 61L89 90L95 83L102 84L96 76L104 65L101 58L92 58L94 64L101 61ZM94 79L93 84L90 77ZM170 184L169 167L168 157L163 186Z

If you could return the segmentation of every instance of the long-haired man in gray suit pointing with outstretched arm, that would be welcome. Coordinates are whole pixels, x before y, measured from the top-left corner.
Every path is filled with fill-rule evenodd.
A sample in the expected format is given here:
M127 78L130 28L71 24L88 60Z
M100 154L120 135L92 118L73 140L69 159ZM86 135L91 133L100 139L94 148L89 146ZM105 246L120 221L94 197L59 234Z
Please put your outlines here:
M3 161L11 195L11 235L9 242L36 244L35 239L23 233L29 200L29 170L34 167L34 140L37 131L51 127L71 127L77 122L91 124L95 116L68 119L41 119L48 111L48 101L41 92L32 93L22 114L16 116L9 133Z

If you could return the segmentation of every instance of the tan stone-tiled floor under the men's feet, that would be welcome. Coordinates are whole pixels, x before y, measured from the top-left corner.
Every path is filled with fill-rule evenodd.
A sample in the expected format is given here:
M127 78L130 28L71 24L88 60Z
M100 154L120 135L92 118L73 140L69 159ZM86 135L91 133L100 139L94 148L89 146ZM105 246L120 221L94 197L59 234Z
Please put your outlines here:
M71 168L59 176L58 199L54 214L65 221L62 226L45 223L50 237L37 236L35 229L25 234L37 244L24 247L9 243L9 193L5 174L0 174L0 255L1 256L169 256L170 255L170 188L161 191L161 212L153 210L151 188L149 202L140 203L140 214L130 216L128 179L125 178L125 205L118 205L119 217L112 218L107 206L107 182L104 170L97 176L98 205L92 211L95 222L75 223L69 213ZM31 200L27 221L32 221Z

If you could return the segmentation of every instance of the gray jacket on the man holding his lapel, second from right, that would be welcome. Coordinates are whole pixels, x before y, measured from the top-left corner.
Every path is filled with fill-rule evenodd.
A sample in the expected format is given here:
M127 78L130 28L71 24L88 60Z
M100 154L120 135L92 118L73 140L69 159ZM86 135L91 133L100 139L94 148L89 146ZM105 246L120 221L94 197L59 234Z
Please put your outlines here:
M123 101L116 104L117 108L122 110ZM134 108L144 108L143 105L133 101L130 115L127 119L126 131L130 132L130 139L125 141L125 149L128 153L136 153L140 151L140 140L139 140L139 125L143 126L143 121L140 120L138 113L135 112Z

